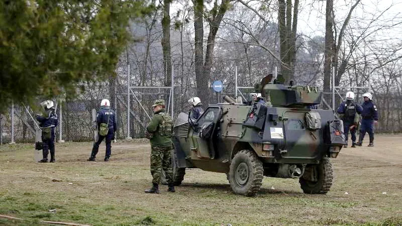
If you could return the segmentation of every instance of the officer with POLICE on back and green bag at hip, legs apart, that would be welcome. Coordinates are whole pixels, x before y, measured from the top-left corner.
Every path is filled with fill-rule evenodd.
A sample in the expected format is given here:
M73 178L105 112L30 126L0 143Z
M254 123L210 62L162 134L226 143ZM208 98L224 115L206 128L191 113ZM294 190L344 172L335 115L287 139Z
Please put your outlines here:
M108 99L103 99L100 102L100 109L96 114L96 124L98 128L98 140L93 144L91 156L88 161L95 161L96 154L99 149L100 143L106 138L106 154L105 161L109 161L110 155L112 153L112 140L115 139L115 131L117 130L116 125L116 112L110 108L110 101ZM108 134L102 136L99 134L100 124L108 125Z

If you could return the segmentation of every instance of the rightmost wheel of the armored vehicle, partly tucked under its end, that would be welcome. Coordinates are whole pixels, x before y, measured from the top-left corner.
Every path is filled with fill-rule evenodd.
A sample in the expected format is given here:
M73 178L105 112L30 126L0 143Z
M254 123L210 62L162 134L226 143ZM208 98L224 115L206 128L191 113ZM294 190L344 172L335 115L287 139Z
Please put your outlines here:
M318 165L307 165L299 183L304 193L327 194L333 179L332 164L328 158L324 158Z

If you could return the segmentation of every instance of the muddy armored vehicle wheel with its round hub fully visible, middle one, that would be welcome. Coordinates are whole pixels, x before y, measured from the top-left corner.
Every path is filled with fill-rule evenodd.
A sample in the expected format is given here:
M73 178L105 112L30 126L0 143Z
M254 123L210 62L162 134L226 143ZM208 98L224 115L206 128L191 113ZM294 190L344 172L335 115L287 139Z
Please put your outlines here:
M250 150L241 150L232 159L229 182L234 193L255 195L262 185L264 169L257 155Z

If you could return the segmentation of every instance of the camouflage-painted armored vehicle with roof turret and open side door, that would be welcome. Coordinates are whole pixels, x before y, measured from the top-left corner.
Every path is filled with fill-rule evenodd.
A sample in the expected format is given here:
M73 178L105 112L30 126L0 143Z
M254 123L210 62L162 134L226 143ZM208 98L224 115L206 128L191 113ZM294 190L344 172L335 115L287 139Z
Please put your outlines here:
M173 126L174 180L185 168L226 173L234 193L255 195L267 177L298 179L305 193L326 194L332 185L330 158L345 137L343 124L321 102L316 86L280 84L265 77L257 91L265 104L246 105L225 96L197 121L181 112Z

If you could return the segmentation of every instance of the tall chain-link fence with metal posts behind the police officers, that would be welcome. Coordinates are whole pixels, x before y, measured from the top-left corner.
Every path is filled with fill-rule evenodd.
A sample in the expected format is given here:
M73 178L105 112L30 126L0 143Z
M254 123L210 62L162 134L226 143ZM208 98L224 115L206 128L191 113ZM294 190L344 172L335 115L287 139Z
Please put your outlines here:
M237 68L235 64L230 67L218 70L213 69L208 73L209 79L202 98L204 108L209 104L221 102L224 95L235 97L236 76L238 95L249 98L248 93L253 92L251 88L261 78L269 73L275 73L275 69L256 71L255 75L244 73L243 68ZM154 100L164 99L166 110L173 118L180 112L187 112L189 104L187 100L196 96L198 92L196 77L193 71L183 73L180 65L173 64L173 92L170 86L165 86L166 79L163 71L155 73L153 77L141 82L138 68L130 69L130 88L128 87L128 68L119 67L118 76L104 82L82 84L85 92L74 96L57 98L57 114L61 118L61 126L56 129L56 140L65 141L90 141L92 139L92 118L91 110L98 109L100 101L104 98L110 99L111 107L117 113L117 138L143 138L145 128L152 117ZM281 73L278 69L278 74ZM213 91L211 85L215 80L221 80L224 85L222 93ZM144 80L143 80L144 81ZM313 84L312 84L313 85ZM130 94L130 95L128 95ZM199 95L198 95L199 96ZM201 96L200 96L201 97ZM358 95L357 95L358 98ZM129 99L129 101L128 101ZM401 132L402 131L402 98L400 96L376 95L378 102L380 122L378 132ZM31 112L33 114L33 112ZM1 116L0 120L1 142L33 142L35 125L23 105L15 104L12 110Z

